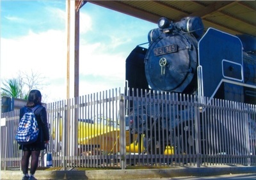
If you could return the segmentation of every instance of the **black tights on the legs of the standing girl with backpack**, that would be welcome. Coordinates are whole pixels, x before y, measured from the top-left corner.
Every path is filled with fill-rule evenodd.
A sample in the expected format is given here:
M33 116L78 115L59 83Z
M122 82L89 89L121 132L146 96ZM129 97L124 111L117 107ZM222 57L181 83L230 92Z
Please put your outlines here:
M29 163L29 157L31 156L31 163L30 163L30 174L35 174L36 169L38 167L38 158L40 155L39 151L23 151L24 154L21 159L21 169L23 174L28 173L28 163Z

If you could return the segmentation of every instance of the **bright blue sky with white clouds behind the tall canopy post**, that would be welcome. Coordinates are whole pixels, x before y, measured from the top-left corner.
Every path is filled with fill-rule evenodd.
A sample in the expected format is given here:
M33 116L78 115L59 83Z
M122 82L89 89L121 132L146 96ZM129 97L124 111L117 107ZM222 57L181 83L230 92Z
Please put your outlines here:
M66 98L66 1L1 1L1 78L44 77L47 102ZM157 25L92 3L80 9L79 94L124 87L125 59ZM44 96L45 97L45 96Z

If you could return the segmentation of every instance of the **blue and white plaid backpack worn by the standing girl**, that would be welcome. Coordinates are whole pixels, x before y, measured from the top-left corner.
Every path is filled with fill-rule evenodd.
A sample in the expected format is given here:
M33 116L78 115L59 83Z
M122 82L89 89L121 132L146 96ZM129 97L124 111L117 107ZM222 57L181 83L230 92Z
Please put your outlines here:
M15 135L18 144L32 144L36 141L39 133L38 124L35 117L35 110L40 105L36 105L32 110L25 108L25 113L20 119L19 127Z

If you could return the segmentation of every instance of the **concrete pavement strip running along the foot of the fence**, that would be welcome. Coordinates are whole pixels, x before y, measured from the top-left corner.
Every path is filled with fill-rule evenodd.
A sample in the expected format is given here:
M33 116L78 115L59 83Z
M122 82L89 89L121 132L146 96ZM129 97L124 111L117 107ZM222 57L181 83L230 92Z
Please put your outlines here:
M168 167L168 169L127 170L37 170L35 177L44 179L173 179L209 177L228 174L255 174L256 166ZM1 170L0 179L22 179L20 170Z

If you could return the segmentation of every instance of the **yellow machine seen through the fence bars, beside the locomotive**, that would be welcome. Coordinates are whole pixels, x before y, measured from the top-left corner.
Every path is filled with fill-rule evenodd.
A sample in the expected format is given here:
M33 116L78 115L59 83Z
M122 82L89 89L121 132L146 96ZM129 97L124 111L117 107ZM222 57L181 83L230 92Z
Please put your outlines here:
M59 127L59 128L55 128ZM62 119L54 121L51 128L52 139L62 141ZM144 136L141 135L140 142L138 142L138 135L132 135L129 131L125 133L126 152L127 153L141 153L145 151L143 144ZM97 151L102 153L118 153L120 152L120 129L106 124L94 124L84 121L77 123L77 143L80 146L97 147ZM173 147L166 146L164 154L173 154Z

